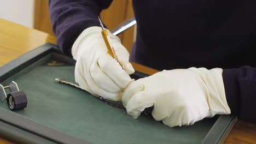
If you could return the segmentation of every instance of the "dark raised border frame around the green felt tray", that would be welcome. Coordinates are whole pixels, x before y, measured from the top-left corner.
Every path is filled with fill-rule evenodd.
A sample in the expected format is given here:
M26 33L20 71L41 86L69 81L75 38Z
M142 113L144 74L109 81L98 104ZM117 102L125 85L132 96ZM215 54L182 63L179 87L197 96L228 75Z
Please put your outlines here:
M3 65L0 67L0 82L14 75L11 71L20 71L51 52L62 54L59 47L47 43ZM139 71L136 71L133 75L138 77L148 76ZM223 142L236 121L235 115L219 116L202 143ZM0 125L0 135L20 143L89 143L2 108L0 108ZM11 126L11 129L8 125Z

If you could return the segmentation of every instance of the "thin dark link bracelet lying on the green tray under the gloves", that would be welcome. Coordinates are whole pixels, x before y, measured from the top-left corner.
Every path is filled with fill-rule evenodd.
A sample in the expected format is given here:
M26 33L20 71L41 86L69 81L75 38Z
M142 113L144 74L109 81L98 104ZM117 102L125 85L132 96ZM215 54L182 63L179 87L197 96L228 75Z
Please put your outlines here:
M79 89L82 89L83 91L85 91L80 86L78 86L78 85L76 85L76 84L74 84L72 82L69 82L66 79L63 79L63 77L61 77L60 79L55 79L55 82L57 82L57 83L65 83L66 85L69 85L69 86L72 86L72 87L75 87L75 88L79 88ZM92 95L94 95L94 94L92 94ZM113 107L117 107L119 109L125 109L125 107L123 105L123 102L121 100L109 100L109 99L101 97L100 95L94 95L94 97L99 99L99 100L104 101L105 103L107 103L108 105L111 105ZM152 110L153 110L153 107L148 107L142 113L144 113L145 115L148 115L149 113L152 112Z

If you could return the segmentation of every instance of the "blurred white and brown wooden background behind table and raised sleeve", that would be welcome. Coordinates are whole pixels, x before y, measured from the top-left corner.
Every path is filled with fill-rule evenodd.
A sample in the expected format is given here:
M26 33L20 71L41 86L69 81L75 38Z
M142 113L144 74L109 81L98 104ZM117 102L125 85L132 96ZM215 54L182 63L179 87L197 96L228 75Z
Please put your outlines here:
M102 21L111 31L133 17L132 0L114 0L107 10L101 13ZM46 0L0 0L0 19L19 23L54 35ZM132 27L118 37L130 52L135 28Z

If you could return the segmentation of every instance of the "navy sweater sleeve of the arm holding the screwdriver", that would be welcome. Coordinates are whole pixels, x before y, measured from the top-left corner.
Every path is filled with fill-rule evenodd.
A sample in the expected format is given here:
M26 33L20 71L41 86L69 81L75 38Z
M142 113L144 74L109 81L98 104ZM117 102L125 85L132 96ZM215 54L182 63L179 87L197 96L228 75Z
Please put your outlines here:
M49 13L57 45L67 56L84 29L100 26L97 17L112 0L49 0Z

